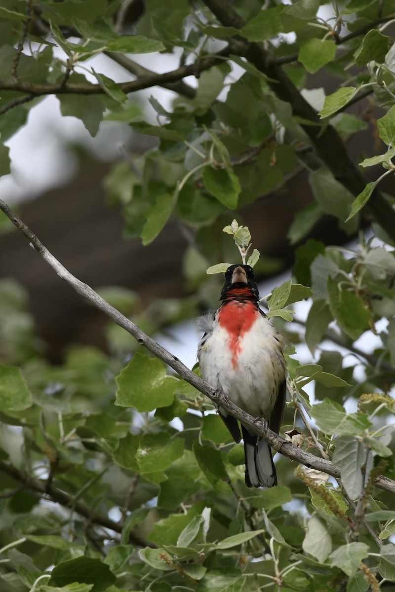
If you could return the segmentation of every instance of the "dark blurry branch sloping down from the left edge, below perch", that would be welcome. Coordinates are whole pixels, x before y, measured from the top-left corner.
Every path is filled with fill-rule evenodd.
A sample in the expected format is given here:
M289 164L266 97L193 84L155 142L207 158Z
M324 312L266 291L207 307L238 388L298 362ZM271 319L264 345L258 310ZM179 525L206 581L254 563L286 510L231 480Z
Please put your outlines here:
M26 489L36 491L43 499L55 501L60 504L60 506L68 507L70 510L84 516L84 518L88 519L91 523L114 530L114 532L119 534L122 533L122 525L119 522L114 522L114 520L111 520L108 516L104 516L103 514L91 510L91 508L79 501L75 502L71 496L64 491L53 487L53 485L47 487L46 483L34 479L30 475L17 469L16 466L0 460L0 471L7 473L9 477L12 477L15 481L23 484ZM140 547L156 548L155 543L147 540L135 530L130 531L129 540L131 543L134 543L134 545Z

